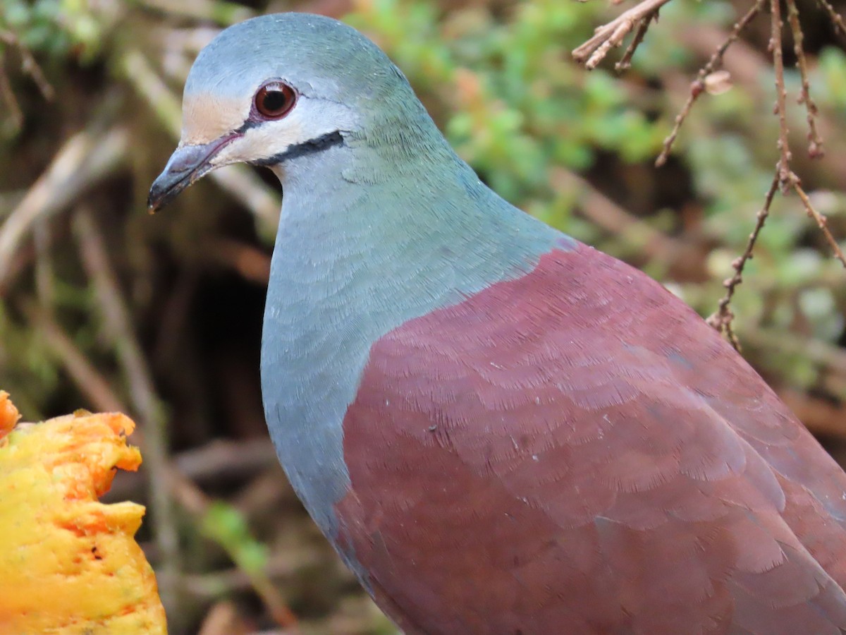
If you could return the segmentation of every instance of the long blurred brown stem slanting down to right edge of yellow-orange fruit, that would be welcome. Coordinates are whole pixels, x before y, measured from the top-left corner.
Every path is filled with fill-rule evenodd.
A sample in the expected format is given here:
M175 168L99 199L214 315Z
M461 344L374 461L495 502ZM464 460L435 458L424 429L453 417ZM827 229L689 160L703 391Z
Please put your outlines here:
M162 553L162 601L175 610L179 606L179 533L173 516L168 488L168 449L165 417L153 388L150 371L132 327L123 295L109 262L106 246L91 213L80 209L74 218L74 230L80 244L85 271L96 290L103 323L113 340L118 361L124 368L133 410L144 430L146 462L150 469L150 500L153 532Z

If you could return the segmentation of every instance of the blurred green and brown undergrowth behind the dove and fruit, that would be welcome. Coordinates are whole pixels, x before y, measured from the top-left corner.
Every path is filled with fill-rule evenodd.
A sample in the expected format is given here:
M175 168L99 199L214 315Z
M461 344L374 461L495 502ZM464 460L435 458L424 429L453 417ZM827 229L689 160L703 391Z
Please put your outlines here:
M653 162L696 70L748 6L667 4L618 75L619 52L591 72L569 55L622 10L602 0L0 0L0 387L30 420L85 407L140 422L146 477L120 475L112 495L149 505L140 538L172 632L282 632L293 616L305 633L392 632L266 439L258 347L277 183L225 168L145 213L201 47L254 14L346 19L494 189L707 316L777 161L766 15L725 58L731 90L701 98L667 165ZM816 3L799 9L827 156L807 157L791 102L794 169L843 240L846 53ZM783 49L795 95L789 36ZM830 256L799 202L777 197L734 327L843 460L846 272Z

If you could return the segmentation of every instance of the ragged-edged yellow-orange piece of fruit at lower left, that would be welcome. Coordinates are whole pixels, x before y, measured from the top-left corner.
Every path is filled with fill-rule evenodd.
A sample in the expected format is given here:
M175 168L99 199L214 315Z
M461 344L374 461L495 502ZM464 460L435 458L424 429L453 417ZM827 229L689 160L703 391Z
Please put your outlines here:
M156 578L133 536L144 507L103 505L117 468L138 469L120 414L11 428L0 394L0 635L166 632ZM5 422L5 428L4 428Z

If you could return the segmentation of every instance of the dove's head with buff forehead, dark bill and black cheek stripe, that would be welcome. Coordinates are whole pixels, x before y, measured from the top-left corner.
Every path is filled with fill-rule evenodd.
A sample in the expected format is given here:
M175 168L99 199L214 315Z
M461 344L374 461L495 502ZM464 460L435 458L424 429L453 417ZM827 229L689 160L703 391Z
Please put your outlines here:
M191 67L179 146L148 204L164 207L223 165L276 168L343 144L406 91L387 56L337 20L273 14L233 25Z

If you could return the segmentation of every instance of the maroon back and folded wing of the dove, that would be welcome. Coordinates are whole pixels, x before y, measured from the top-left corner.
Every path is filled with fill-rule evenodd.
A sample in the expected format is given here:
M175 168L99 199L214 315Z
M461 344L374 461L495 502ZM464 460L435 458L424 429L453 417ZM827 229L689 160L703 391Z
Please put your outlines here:
M846 628L846 476L601 252L385 335L343 426L339 541L406 632Z

